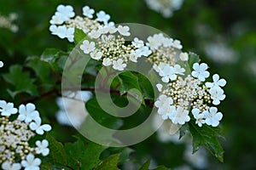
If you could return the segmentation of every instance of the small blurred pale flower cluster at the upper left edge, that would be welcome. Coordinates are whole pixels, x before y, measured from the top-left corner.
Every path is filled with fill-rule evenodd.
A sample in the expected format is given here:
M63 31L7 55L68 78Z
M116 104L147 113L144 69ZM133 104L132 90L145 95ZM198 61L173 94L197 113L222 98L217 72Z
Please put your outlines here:
M9 16L3 16L0 14L0 28L6 28L10 31L17 32L19 27L13 23L17 18L18 15L15 13L11 13Z

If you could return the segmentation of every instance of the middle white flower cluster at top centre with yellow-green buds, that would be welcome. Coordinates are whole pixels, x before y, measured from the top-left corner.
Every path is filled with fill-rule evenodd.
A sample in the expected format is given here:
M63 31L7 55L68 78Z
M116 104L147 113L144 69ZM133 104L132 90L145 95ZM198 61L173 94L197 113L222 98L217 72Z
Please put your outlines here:
M80 48L84 54L90 54L92 59L102 61L102 65L112 65L114 70L124 71L129 61L137 62L138 58L152 53L137 37L132 44L126 45L123 36L130 36L129 30L129 26L106 26L98 31L91 31L89 36L95 38L95 42L84 40ZM118 36L114 35L116 32L119 32Z

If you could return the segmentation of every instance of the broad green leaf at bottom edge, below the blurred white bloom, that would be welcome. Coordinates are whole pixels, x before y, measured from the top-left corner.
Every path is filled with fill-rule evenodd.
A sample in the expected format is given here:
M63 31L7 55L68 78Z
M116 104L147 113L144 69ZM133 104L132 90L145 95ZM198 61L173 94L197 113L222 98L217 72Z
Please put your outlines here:
M83 137L77 138L78 140L73 144L65 144L69 166L83 170L90 170L96 167L101 162L99 157L102 151L106 149L106 146L92 143L82 139Z

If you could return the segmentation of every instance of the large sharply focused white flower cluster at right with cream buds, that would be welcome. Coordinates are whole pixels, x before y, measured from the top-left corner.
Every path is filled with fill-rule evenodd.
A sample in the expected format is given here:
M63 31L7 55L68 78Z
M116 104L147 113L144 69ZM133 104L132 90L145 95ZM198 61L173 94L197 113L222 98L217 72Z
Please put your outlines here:
M206 82L207 77L210 77L207 68L205 63L194 63L191 74L184 74L185 69L178 64L165 65L160 70L160 77L165 83L157 84L160 97L154 105L164 120L183 125L190 121L191 107L195 124L199 127L205 123L212 127L218 126L223 115L215 105L225 98L222 87L226 81L214 74L213 82Z

